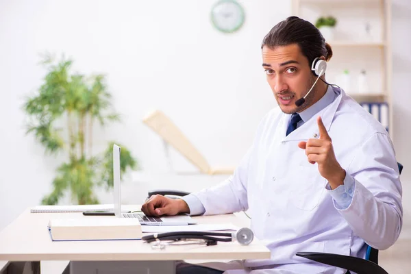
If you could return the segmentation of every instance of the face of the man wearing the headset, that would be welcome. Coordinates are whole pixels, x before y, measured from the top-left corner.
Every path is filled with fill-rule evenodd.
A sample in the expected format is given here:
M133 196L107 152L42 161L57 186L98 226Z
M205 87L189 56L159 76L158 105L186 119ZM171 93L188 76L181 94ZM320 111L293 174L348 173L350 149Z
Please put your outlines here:
M278 46L274 49L264 46L262 63L267 82L273 90L279 108L284 113L301 112L314 103L315 87L306 97L303 105L299 107L295 105L295 101L307 94L316 79L299 45Z

